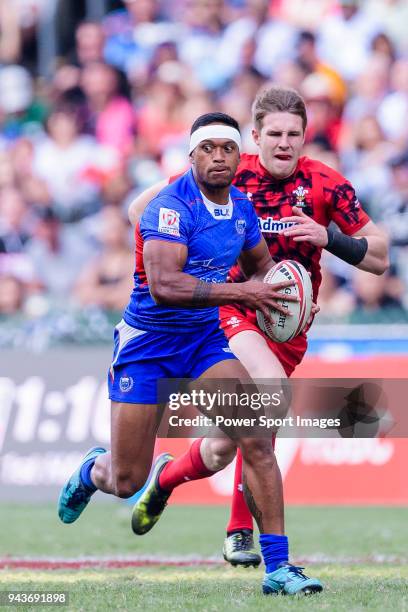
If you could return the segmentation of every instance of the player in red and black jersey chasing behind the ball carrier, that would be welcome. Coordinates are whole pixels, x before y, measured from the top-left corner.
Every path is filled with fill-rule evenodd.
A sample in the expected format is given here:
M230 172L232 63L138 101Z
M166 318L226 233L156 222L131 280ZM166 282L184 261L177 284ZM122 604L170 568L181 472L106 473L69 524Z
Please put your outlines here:
M257 95L252 111L259 153L241 155L234 185L252 201L273 259L294 259L305 266L311 274L314 302L321 282L322 249L362 270L383 274L389 265L386 237L362 210L352 185L325 164L301 157L307 125L302 97L293 89L272 86ZM133 224L167 183L154 185L131 204ZM331 221L340 231L329 227ZM235 282L245 280L239 267L231 270L230 277ZM223 306L220 320L232 351L255 379L290 376L306 352L305 332L288 342L275 343L259 329L255 312L249 309ZM167 475L163 472L161 482L168 490L173 487L172 472L181 467L177 461L167 466ZM283 534L280 492L275 500ZM261 557L254 550L252 533L238 451L224 558L233 565L258 565Z

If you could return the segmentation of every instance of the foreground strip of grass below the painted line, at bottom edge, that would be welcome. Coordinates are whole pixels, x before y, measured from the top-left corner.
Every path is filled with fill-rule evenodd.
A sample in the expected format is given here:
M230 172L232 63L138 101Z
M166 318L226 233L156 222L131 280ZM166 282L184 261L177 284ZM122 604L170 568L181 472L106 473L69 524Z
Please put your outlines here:
M261 571L141 568L6 574L2 589L67 591L72 610L408 610L406 567L316 567L320 595L264 597ZM26 609L26 608L25 608ZM37 608L38 609L38 608ZM64 609L64 608L60 608Z

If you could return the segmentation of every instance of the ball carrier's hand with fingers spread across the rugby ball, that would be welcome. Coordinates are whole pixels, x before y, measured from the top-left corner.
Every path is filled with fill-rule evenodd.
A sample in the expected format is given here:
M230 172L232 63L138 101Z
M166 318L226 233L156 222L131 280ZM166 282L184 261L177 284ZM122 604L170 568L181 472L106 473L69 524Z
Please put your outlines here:
M252 310L260 310L262 314L271 321L270 309L273 308L282 314L292 313L282 302L298 302L296 295L282 293L286 287L295 285L296 281L282 281L281 283L260 283L258 281L247 281L241 283L244 292L245 305Z

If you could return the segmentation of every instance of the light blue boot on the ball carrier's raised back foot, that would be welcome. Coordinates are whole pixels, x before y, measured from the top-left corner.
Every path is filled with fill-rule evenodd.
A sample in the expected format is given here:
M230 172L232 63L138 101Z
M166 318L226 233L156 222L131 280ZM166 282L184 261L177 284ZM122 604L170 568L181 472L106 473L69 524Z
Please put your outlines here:
M106 453L104 448L95 446L91 448L83 458L80 466L75 470L61 489L58 499L58 516L63 523L73 523L85 510L94 490L86 487L81 480L81 469L84 463L90 459L96 459L98 455Z

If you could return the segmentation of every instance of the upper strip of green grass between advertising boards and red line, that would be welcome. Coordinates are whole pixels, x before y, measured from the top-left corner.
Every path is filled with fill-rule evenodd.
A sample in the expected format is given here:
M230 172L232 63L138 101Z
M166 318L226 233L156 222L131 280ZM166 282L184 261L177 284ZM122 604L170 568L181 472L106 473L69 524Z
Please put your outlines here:
M130 531L125 504L91 503L72 525L60 523L52 505L0 505L0 556L221 554L228 509L170 506L147 535ZM109 528L107 528L109 526ZM290 507L286 528L294 558L322 553L408 558L405 508Z

